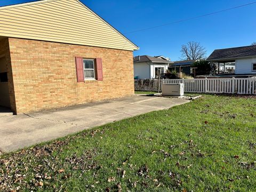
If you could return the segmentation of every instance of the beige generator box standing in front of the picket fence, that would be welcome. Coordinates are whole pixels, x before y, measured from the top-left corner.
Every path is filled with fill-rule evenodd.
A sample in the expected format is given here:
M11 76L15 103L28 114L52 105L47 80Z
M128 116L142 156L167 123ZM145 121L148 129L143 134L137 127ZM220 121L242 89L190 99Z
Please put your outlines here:
M163 84L162 94L171 95L171 96L183 96L184 84L183 83Z

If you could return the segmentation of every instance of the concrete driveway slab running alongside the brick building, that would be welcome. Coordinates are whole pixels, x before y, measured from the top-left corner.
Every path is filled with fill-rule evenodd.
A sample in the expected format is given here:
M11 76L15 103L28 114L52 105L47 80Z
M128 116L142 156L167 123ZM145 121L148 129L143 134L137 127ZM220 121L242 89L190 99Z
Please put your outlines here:
M189 101L136 95L23 115L10 115L10 111L0 110L0 151L17 150L186 102Z

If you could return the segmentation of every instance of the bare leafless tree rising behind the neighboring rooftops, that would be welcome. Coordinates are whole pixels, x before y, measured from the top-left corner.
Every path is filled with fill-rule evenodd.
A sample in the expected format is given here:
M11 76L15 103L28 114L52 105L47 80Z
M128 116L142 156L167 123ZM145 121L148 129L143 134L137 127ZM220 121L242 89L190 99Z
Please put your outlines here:
M181 46L181 53L183 60L197 60L205 57L206 49L198 42L188 42Z

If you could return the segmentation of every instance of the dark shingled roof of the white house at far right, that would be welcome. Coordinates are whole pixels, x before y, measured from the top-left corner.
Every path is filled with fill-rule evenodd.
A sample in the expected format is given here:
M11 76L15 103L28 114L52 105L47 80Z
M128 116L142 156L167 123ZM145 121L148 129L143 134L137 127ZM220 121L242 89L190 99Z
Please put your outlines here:
M232 60L256 56L256 45L214 50L207 60Z

